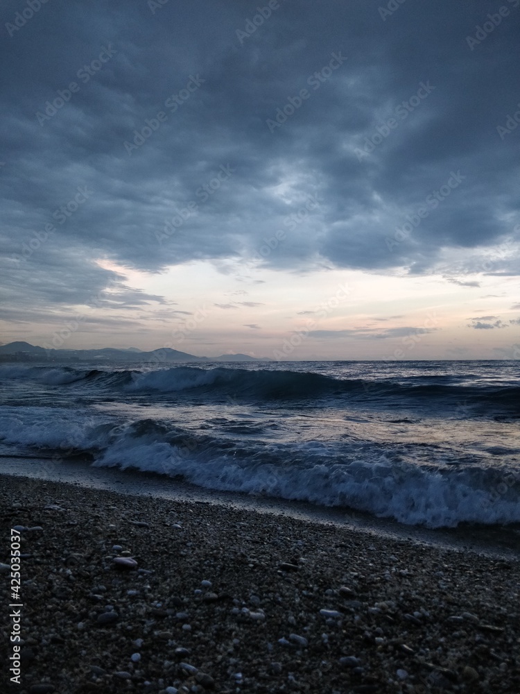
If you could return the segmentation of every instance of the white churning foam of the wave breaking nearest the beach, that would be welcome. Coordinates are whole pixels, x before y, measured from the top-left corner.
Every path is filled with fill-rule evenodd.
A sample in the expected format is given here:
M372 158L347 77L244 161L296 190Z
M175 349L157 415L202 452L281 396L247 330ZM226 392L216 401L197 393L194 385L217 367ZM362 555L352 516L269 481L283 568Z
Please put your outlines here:
M301 448L298 452L301 454ZM396 467L384 458L330 465L311 451L304 464L293 464L290 458L283 464L254 464L253 459L237 462L233 455L208 454L193 455L168 443L137 443L123 437L95 465L182 475L193 484L220 491L350 507L408 525L520 522L520 475L516 489L502 483L506 491L500 493L496 491L498 482L486 486L494 471L476 468L431 471L411 464Z

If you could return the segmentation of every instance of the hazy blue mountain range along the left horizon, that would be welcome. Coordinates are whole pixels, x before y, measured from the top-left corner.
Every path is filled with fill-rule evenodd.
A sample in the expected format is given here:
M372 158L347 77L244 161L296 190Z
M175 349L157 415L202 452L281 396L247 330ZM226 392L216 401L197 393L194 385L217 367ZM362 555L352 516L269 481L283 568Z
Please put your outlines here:
M16 361L38 362L257 362L262 361L257 357L247 354L223 354L220 357L197 357L187 352L180 352L170 347L161 347L151 352L142 352L137 347L116 349L104 347L103 349L44 349L29 344L28 342L10 342L0 345L0 356ZM11 360L12 360L11 359Z

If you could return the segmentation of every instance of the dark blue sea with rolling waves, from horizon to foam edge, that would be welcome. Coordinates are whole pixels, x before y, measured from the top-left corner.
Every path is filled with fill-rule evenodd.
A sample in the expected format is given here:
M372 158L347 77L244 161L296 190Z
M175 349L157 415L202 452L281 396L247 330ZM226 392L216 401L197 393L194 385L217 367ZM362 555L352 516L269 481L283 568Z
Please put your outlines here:
M1 364L0 455L409 525L520 522L520 364Z

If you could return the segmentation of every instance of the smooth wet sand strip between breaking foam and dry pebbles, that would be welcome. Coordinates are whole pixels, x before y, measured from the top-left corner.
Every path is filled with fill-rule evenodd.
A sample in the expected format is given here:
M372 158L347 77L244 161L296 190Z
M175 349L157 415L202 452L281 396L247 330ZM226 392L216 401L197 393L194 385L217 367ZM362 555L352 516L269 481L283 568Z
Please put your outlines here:
M425 545L476 552L497 559L520 559L520 527L512 525L471 525L431 529L406 525L394 518L378 518L367 511L345 507L324 507L311 502L287 500L236 491L218 491L180 481L158 473L137 469L96 467L85 459L29 458L0 455L0 475L31 477L64 482L85 489L104 489L124 496L144 496L168 500L200 501L246 509L259 514L288 515L309 523L329 523L390 539L410 539Z

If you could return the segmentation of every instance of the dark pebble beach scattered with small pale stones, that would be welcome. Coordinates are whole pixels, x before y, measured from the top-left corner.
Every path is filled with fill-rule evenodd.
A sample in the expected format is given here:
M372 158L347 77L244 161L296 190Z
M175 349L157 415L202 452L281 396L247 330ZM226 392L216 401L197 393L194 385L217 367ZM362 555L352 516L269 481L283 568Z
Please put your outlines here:
M520 692L517 559L0 478L4 666L9 528L21 545L9 691Z

